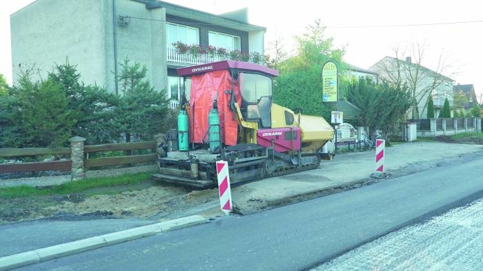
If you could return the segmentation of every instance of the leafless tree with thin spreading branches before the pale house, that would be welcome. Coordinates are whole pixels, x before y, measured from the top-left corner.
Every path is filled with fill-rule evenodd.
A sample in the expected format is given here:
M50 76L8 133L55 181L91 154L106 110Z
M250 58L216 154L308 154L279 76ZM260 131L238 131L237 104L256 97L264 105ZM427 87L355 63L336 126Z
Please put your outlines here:
M386 57L377 63L375 69L380 75L393 83L395 86L405 84L411 91L411 115L413 119L419 118L418 105L424 103L423 110L427 106L426 98L431 94L434 98L446 98L453 93L453 80L456 74L452 63L442 51L437 59L437 66L430 70L423 66L426 56L425 43L413 43L405 50L395 48L395 58ZM403 60L402 56L406 56ZM443 75L446 74L446 75ZM445 84L451 85L446 86Z

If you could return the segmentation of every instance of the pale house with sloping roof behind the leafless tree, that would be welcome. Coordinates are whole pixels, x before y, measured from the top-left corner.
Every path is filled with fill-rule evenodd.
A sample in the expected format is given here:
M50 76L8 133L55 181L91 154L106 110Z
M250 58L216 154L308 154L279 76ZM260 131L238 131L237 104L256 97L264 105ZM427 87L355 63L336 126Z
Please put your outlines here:
M399 80L410 88L414 86L420 118L426 118L426 106L430 93L433 98L435 116L440 115L445 99L448 99L453 115L453 79L412 62L411 57L406 57L405 60L384 57L368 70L377 72L382 79L392 82ZM412 108L408 115L412 115Z

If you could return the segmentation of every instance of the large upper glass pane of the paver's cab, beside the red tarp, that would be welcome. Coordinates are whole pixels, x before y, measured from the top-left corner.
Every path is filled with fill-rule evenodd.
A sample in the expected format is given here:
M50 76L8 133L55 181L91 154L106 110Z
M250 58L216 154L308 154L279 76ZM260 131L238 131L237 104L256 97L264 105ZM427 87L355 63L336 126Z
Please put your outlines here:
M240 72L242 97L248 103L257 103L262 97L272 96L272 79L262 74Z

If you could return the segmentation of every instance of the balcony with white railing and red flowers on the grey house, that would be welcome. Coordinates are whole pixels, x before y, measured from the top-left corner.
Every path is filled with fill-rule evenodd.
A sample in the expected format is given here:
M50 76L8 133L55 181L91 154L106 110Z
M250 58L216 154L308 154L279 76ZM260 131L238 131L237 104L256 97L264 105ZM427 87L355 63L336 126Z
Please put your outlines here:
M199 46L199 48L201 52L193 53L191 50L184 50L180 53L179 48L168 45L167 62L175 66L194 66L215 61L240 60L264 65L264 58L261 54L246 54L239 51L227 52L226 50L224 50L226 52L224 54L210 54L205 51L204 47Z

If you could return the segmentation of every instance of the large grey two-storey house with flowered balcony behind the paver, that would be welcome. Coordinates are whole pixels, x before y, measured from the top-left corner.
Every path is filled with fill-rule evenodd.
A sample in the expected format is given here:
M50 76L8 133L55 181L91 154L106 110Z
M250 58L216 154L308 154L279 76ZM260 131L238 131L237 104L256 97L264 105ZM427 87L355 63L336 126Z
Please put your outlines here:
M128 58L146 65L175 107L183 86L176 68L263 56L266 28L248 23L247 12L217 15L155 0L37 0L10 15L14 82L22 68L45 77L68 58L84 83L119 92L115 78Z

